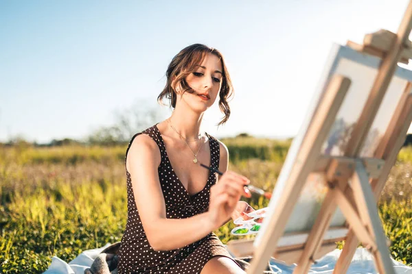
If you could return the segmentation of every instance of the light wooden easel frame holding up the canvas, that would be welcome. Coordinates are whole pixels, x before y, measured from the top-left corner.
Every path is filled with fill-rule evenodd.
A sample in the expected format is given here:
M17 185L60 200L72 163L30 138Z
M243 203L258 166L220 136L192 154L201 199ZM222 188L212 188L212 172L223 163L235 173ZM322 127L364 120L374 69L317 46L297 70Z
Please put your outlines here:
M350 231L345 240L334 273L345 273L352 260L358 241L374 255L374 262L379 273L394 273L389 255L385 234L380 223L376 201L389 175L396 156L402 147L409 125L412 122L411 85L407 85L399 101L396 112L384 137L378 145L374 158L360 158L361 147L398 62L407 63L412 57L409 34L412 29L412 1L409 3L397 34L380 31L365 36L363 45L348 42L348 46L367 54L382 58L378 75L358 118L352 138L345 149L344 157L322 159L321 145L330 131L341 103L350 86L350 79L335 75L325 98L322 99L314 115L311 126L306 133L297 160L288 177L284 195L277 203L277 210L268 220L268 229L264 231L260 245L253 251L253 259L247 273L262 273L268 259L277 254L277 242L282 236L286 221L293 206L297 202L309 173L317 169L319 161L326 161L325 184L328 193L322 203L302 251L299 253L297 267L293 273L308 273L310 265L319 256L319 248L323 246L323 236L330 226L336 207L339 206L347 219ZM375 176L371 176L374 171Z

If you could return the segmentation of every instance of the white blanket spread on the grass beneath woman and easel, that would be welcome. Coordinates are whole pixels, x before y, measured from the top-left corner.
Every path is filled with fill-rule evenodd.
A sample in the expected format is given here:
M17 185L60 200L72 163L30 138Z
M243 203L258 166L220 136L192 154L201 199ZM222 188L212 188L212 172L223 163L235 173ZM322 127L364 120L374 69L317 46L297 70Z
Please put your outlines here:
M49 269L47 269L47 271L43 274L84 274L84 269L88 269L99 253L109 245L110 243L107 243L104 247L83 251L68 264L67 262L64 262L60 258L54 256ZM323 258L318 260L317 264L312 265L309 273L332 274L339 255L341 255L341 250L339 249L335 249L334 251L326 254ZM282 274L292 273L295 268L295 265L287 266L277 260L271 260L270 265L274 273ZM396 273L412 274L412 267L405 266L396 260L393 260L393 265ZM358 273L376 273L373 258L371 254L366 251L366 249L356 249L356 253L350 264L349 271L347 271L347 274Z

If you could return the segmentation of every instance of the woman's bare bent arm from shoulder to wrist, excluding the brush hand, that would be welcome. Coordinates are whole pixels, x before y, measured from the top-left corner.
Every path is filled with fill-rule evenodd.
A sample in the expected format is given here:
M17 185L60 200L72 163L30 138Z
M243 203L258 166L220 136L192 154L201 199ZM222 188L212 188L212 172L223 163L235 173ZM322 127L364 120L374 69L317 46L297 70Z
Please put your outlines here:
M165 200L159 182L159 147L140 134L128 151L133 195L150 246L155 250L184 247L209 234L214 228L207 214L187 219L166 219Z

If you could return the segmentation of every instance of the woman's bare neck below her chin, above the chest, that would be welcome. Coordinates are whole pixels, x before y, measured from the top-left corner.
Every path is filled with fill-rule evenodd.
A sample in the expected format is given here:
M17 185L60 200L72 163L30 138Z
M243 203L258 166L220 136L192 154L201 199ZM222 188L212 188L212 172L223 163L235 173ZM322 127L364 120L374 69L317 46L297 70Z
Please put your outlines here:
M174 129L186 140L196 140L199 138L202 119L203 113L199 115L197 113L185 112L183 114L177 109L174 109L172 115L168 118Z

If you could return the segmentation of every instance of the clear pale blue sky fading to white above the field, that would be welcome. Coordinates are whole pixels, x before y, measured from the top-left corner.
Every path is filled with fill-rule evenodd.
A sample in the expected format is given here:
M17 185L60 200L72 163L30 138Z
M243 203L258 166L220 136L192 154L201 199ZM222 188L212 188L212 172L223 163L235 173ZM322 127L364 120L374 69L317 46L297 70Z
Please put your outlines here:
M408 2L0 1L0 140L82 138L139 102L168 114L165 69L196 42L225 55L236 90L209 134L295 136L332 43L397 32Z

